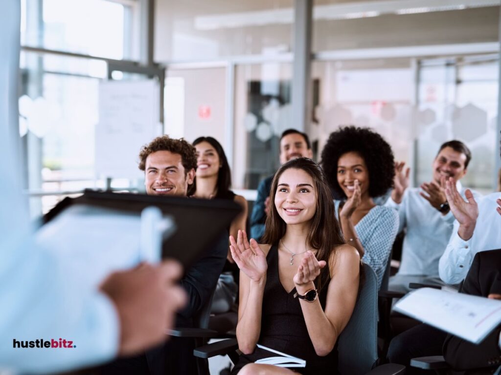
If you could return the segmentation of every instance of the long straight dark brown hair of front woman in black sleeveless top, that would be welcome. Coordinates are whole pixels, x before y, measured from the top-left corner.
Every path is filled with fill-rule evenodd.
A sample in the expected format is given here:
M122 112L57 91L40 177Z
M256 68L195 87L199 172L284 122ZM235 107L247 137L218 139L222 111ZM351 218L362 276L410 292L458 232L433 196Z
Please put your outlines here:
M318 249L315 255L317 259L327 262L327 266L321 270L317 281L317 289L321 290L324 285L328 284L331 277L329 264L333 251L335 251L336 246L346 242L341 234L341 226L334 213L333 197L325 174L320 165L312 159L298 157L289 160L275 173L270 191L270 213L266 218L266 231L263 236L263 242L278 244L280 239L285 235L287 224L280 217L274 202L280 176L290 168L304 170L313 178L317 194L317 207L315 214L311 218L311 227L307 242L310 247Z

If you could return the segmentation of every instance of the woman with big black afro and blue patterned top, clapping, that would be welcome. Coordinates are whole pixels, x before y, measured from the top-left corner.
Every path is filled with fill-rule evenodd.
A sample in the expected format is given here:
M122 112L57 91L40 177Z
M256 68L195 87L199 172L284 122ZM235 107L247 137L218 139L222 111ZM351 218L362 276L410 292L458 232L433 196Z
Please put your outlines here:
M373 198L393 186L393 152L383 137L368 129L341 127L329 136L321 165L335 196L346 242L354 246L378 277L378 287L398 230L398 214Z

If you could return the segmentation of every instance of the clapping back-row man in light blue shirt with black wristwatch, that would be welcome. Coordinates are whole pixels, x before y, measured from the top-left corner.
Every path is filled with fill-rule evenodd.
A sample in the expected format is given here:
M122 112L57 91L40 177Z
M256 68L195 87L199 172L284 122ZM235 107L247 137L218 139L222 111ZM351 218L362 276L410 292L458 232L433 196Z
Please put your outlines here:
M410 282L441 283L438 260L447 246L454 221L445 196L445 179L453 179L464 194L459 180L466 174L470 159L470 150L463 142L443 143L433 160L431 182L419 188L407 188L409 168L404 173L404 163L397 163L395 187L386 205L398 210L399 231L406 232L400 268L390 278L390 290L407 292Z

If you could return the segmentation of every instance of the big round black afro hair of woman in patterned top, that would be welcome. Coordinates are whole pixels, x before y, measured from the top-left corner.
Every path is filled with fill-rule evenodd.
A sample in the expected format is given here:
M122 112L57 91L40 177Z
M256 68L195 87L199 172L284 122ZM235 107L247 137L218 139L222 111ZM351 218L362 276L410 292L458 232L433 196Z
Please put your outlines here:
M320 164L335 195L346 197L339 186L337 174L338 160L347 152L356 152L365 160L371 197L383 195L393 187L395 161L391 146L379 133L351 125L332 132L322 150Z

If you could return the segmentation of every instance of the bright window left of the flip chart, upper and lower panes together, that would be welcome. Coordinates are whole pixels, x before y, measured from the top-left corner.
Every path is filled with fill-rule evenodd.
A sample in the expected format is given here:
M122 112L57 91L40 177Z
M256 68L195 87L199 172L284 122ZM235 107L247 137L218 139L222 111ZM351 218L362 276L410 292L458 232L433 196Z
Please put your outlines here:
M22 0L23 46L92 56L137 57L139 1ZM31 211L39 215L71 191L104 187L95 174L102 59L21 53L20 134L28 160ZM129 181L114 181L128 186ZM56 195L48 195L54 192Z

